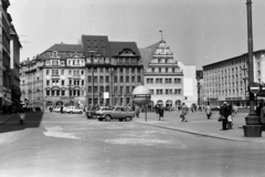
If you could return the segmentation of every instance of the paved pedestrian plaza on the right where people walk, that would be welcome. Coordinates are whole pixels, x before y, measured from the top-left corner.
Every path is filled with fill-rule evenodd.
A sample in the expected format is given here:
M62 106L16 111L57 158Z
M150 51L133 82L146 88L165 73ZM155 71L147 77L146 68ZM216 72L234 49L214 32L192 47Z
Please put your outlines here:
M243 125L245 125L247 114L248 113L237 113L233 119L233 128L227 131L222 131L222 122L218 122L218 112L213 113L211 119L206 118L204 112L189 113L187 123L181 122L179 116L180 112L166 112L163 121L159 121L155 113L147 113L146 121L145 113L141 113L139 118L134 118L134 122L212 138L265 143L265 135L262 137L244 137Z

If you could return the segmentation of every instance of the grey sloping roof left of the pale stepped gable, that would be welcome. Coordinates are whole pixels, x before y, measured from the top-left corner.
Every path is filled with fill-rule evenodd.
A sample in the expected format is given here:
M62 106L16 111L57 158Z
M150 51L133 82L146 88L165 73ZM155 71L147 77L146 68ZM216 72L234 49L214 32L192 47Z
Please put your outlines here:
M159 44L159 42L157 42L152 45L149 45L145 49L139 49L145 69L148 67L149 62L152 60L152 55L153 55L156 49L158 48L158 44Z

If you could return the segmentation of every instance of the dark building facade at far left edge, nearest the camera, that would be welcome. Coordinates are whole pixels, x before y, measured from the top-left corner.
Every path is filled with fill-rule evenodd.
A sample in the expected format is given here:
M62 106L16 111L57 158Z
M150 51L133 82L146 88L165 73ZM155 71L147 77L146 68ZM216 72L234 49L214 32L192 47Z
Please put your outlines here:
M11 70L10 70L10 23L8 13L9 0L0 1L0 110L3 104L10 105L11 98Z

